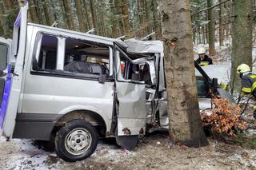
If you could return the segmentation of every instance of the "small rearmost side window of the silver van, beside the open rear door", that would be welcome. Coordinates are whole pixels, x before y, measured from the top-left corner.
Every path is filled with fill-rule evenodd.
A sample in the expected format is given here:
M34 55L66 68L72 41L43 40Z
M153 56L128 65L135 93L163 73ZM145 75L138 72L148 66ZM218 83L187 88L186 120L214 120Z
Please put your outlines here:
M56 69L57 65L58 38L43 35L41 49L38 57L40 69Z

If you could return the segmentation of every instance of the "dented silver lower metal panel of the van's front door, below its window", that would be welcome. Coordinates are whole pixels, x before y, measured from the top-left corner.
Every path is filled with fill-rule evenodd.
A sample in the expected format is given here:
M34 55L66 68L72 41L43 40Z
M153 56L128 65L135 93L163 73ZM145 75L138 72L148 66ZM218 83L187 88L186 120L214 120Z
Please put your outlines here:
M118 135L138 135L146 126L145 85L116 82L119 101Z

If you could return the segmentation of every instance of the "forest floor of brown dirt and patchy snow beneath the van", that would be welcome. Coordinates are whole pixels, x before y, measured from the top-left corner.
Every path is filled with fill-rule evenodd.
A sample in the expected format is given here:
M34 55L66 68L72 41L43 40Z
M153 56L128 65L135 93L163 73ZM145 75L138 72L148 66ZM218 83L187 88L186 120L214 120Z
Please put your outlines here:
M251 113L244 117L254 126ZM228 141L208 137L210 144L202 148L172 144L166 132L142 137L128 152L114 140L101 140L90 158L75 163L38 149L32 140L0 137L0 169L256 169L256 136L253 129L248 132Z

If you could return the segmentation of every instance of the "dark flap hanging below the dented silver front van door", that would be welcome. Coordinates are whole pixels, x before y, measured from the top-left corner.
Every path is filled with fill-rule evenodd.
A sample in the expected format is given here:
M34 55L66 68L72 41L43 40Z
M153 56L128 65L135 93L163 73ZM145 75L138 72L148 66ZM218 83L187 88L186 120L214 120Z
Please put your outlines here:
M127 150L134 149L138 142L138 135L116 136L115 138L117 140L117 144Z

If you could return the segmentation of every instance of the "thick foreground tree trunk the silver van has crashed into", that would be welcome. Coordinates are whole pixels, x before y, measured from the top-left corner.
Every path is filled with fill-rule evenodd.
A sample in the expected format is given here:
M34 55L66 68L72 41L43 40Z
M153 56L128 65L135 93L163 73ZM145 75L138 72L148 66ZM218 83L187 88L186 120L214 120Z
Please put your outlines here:
M190 4L159 0L168 95L170 135L188 146L208 144L202 129L195 87Z

